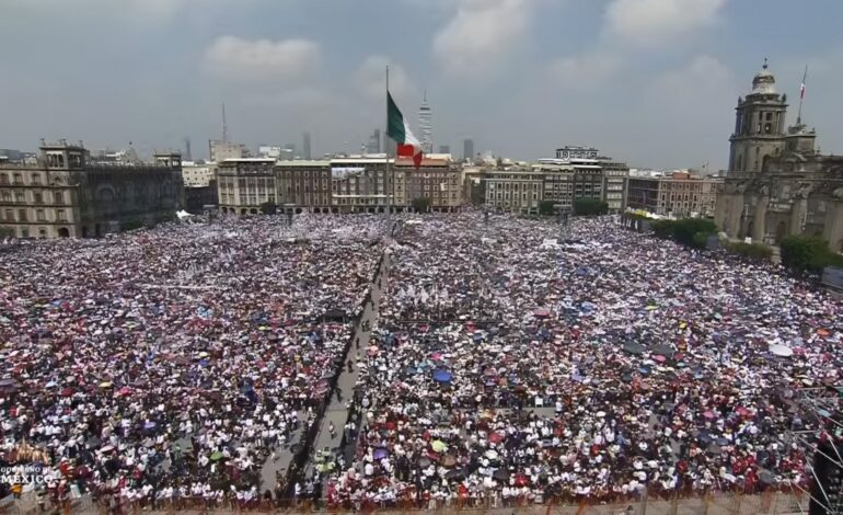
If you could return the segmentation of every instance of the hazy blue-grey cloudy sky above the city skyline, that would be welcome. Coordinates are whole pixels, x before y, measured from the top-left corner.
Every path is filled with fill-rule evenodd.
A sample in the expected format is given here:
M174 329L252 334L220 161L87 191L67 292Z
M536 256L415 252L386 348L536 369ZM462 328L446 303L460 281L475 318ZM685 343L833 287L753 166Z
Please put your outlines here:
M841 0L0 0L0 148L83 139L207 156L232 139L356 151L384 68L435 145L517 159L591 145L636 167L723 167L770 58L796 117L843 153Z

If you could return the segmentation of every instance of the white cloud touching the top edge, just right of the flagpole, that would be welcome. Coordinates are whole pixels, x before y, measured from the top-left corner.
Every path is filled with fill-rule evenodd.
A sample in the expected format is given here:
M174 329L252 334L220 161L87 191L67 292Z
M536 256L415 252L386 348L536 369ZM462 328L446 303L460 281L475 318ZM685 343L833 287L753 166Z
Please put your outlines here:
M503 66L528 30L535 0L458 0L457 15L434 38L434 55L451 75Z

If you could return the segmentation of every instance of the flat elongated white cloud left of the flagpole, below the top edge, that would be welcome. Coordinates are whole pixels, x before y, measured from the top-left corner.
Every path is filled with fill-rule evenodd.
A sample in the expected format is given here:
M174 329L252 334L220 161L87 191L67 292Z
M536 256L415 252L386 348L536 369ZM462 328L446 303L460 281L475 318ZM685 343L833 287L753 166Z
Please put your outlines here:
M220 36L205 53L206 69L243 81L267 78L298 82L319 69L322 53L309 39L241 39Z

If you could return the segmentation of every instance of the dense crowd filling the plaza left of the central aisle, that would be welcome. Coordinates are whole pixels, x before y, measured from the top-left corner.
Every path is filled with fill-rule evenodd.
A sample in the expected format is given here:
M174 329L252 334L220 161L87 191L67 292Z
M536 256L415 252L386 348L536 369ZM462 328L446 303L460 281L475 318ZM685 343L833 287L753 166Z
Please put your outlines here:
M330 394L382 229L300 215L5 245L0 461L54 501L247 505Z

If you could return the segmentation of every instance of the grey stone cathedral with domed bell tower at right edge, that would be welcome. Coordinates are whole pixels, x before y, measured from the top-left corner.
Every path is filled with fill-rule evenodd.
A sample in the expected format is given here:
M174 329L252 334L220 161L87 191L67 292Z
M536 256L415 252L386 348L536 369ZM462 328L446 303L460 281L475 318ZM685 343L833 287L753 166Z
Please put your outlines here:
M820 153L801 116L785 125L787 95L776 91L766 62L735 111L717 226L770 245L790 234L820 236L843 251L843 156Z

